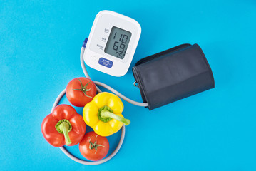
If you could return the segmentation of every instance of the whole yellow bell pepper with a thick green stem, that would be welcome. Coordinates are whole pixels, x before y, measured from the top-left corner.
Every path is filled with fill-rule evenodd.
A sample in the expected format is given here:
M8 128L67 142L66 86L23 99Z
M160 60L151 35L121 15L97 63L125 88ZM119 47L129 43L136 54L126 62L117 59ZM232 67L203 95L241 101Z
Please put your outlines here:
M129 125L130 120L123 118L123 103L112 93L98 93L83 108L83 120L101 136L109 136L118 132L123 124Z

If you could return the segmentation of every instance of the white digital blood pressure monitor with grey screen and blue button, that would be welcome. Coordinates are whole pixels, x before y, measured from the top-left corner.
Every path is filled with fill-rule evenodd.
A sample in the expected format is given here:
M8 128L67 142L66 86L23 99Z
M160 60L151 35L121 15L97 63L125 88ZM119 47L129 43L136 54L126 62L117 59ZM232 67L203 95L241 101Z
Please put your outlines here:
M140 24L113 11L100 11L91 28L83 60L111 76L127 73L140 39Z

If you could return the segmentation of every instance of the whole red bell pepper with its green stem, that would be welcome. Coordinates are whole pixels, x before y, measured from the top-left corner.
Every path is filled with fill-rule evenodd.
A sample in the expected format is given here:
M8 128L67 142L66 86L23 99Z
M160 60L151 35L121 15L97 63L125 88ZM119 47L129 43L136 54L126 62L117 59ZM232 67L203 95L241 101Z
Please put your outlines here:
M43 119L41 130L43 137L54 147L71 146L83 139L86 123L71 105L57 105Z

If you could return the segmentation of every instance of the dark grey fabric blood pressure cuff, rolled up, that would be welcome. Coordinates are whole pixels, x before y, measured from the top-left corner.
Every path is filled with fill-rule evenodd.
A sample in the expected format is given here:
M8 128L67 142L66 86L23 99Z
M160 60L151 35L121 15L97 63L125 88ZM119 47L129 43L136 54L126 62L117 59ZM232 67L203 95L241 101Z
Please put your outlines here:
M182 44L143 58L133 67L133 76L149 110L215 87L198 44Z

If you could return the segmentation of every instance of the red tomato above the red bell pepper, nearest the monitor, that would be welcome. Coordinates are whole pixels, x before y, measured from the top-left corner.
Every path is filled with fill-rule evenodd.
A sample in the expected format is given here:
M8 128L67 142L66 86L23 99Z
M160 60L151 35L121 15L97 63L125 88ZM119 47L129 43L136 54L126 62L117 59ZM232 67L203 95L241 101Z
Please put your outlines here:
M74 78L66 86L68 101L77 107L83 107L93 100L96 95L96 86L89 78Z

